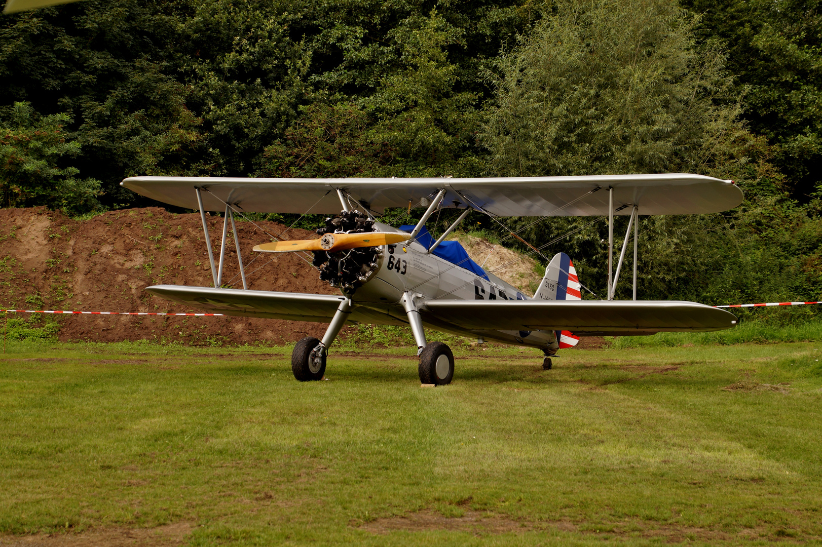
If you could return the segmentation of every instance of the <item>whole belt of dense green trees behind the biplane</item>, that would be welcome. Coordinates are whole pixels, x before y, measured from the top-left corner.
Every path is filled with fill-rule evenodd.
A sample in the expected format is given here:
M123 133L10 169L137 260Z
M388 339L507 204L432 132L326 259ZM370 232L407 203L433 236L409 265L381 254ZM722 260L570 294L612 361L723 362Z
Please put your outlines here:
M644 218L642 297L815 299L819 39L818 4L787 0L84 0L3 16L3 206L147 205L118 186L137 174L700 172L746 203ZM587 223L524 234L575 230L550 251L601 293L607 228Z

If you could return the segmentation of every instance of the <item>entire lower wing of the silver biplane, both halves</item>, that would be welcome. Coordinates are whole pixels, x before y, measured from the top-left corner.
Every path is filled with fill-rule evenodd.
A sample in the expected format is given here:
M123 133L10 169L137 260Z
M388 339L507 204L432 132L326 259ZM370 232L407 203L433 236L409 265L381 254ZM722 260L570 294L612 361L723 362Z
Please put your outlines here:
M245 291L182 285L155 285L146 291L199 310L243 317L329 323L343 296L301 292ZM658 332L699 333L730 329L735 315L682 301L429 300L420 310L429 324L459 330L570 330L576 335L611 336ZM390 310L357 306L350 321L405 324Z

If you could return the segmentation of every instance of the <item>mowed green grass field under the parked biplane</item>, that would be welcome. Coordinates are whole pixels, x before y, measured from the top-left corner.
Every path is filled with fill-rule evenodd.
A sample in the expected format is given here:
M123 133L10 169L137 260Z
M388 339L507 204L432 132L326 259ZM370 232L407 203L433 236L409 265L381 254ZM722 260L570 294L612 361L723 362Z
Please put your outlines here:
M458 352L453 384L420 388L408 348L332 352L329 380L302 384L289 348L10 343L0 532L185 521L192 545L817 541L817 346L575 350L553 370L490 348ZM465 515L488 526L449 525Z

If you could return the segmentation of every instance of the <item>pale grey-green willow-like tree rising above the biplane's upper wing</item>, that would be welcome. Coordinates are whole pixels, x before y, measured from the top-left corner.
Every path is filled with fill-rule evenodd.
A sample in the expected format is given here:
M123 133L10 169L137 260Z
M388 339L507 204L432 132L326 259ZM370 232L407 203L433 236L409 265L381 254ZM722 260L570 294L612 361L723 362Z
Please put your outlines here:
M667 0L557 0L498 61L492 171L726 176L745 131L723 52L697 47L694 25Z

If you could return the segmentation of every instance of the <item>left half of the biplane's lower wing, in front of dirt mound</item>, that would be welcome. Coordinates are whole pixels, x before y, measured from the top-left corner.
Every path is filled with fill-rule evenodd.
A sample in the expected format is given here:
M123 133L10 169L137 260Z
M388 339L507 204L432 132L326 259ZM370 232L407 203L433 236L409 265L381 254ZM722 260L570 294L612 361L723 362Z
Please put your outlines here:
M339 302L343 300L343 296L330 294L247 291L184 285L154 285L146 287L145 290L198 310L242 317L269 317L316 323L330 323ZM349 322L405 324L389 315L387 306L386 310L355 306L349 315Z

